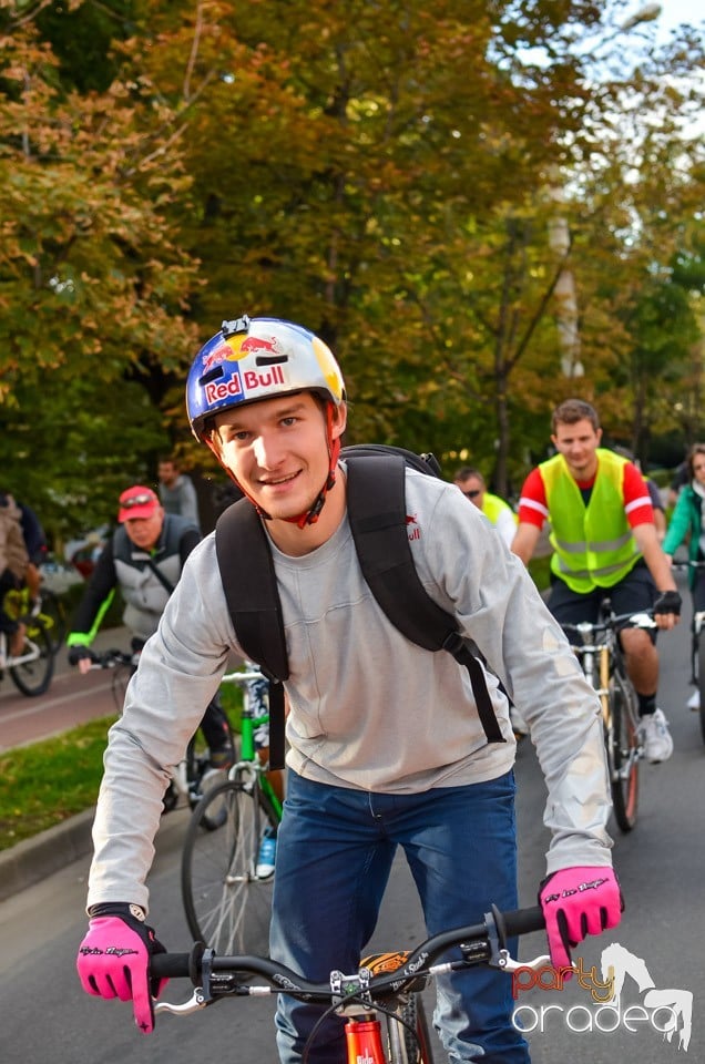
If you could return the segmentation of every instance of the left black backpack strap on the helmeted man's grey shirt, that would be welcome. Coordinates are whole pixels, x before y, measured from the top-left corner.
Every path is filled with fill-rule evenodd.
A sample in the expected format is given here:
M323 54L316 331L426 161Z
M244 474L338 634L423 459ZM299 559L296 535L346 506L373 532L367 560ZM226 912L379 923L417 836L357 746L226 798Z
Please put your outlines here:
M269 765L284 766L284 688L289 675L282 603L267 534L254 507L234 502L215 526L215 552L237 642L269 681Z

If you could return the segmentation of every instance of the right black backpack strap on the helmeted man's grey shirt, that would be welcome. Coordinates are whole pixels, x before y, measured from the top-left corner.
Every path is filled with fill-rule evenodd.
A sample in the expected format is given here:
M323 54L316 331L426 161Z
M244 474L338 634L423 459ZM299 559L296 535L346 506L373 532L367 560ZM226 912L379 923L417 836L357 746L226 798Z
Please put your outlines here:
M478 658L456 618L429 596L413 563L407 532L406 461L400 454L346 456L348 519L365 580L402 635L427 651L448 651L470 675L489 743L503 743Z

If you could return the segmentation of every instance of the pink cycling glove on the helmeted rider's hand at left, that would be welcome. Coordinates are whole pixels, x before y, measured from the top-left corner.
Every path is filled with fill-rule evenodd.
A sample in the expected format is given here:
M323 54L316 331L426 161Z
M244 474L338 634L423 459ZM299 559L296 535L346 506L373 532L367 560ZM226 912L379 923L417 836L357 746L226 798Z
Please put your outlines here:
M79 947L76 969L86 994L132 1001L143 1034L154 1030L152 996L166 980L150 980L150 956L166 952L144 922L139 906L106 903L90 910L89 931Z

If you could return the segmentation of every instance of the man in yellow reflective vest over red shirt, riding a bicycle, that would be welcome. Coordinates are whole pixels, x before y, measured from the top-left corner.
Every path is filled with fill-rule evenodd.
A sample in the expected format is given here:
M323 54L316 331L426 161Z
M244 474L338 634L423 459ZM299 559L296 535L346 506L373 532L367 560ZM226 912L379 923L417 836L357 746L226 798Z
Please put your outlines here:
M672 628L681 596L663 553L648 489L632 462L600 447L602 429L589 402L566 399L553 412L558 454L532 470L521 491L512 551L529 563L543 522L551 522L552 585L549 610L560 623L596 622L605 597L615 613L654 610L660 628ZM665 761L673 739L656 707L658 653L643 628L620 638L638 696L641 738L648 760Z

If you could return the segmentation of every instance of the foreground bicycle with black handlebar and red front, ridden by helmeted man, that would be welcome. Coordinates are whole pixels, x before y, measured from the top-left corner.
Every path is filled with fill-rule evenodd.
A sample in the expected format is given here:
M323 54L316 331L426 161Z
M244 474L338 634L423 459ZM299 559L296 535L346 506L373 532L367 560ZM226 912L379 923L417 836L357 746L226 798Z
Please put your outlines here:
M152 976L188 978L195 988L188 1001L157 1002L154 1012L155 1016L183 1016L224 998L286 993L308 1003L328 1004L321 1021L331 1013L346 1019L347 1064L432 1064L421 996L428 981L479 964L508 974L518 969L538 971L550 964L548 955L520 963L511 956L507 942L543 927L543 913L538 906L503 913L492 907L482 923L435 934L415 950L365 958L355 974L333 971L328 983L310 982L266 956L218 956L197 942L191 953L163 953L151 959ZM451 949L458 949L460 956L436 963ZM264 984L251 983L252 976ZM379 1014L387 1020L385 1040ZM308 1060L316 1031L317 1027L306 1043L303 1064Z

